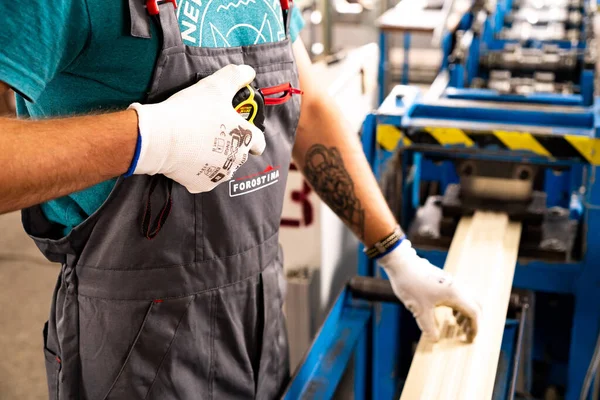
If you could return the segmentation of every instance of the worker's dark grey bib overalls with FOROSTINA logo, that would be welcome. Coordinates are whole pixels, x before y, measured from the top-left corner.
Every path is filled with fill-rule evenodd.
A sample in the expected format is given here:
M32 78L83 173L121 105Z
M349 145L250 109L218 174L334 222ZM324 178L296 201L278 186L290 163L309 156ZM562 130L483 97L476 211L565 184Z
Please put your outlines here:
M131 34L149 38L144 3L129 0ZM254 67L258 87L298 87L289 39L188 47L173 4L159 11L147 103L227 64ZM24 210L27 232L62 263L44 329L50 399L278 396L289 374L278 230L299 108L298 96L267 107L264 154L211 192L192 195L162 175L119 178L66 237L39 207ZM144 235L145 211L170 214Z

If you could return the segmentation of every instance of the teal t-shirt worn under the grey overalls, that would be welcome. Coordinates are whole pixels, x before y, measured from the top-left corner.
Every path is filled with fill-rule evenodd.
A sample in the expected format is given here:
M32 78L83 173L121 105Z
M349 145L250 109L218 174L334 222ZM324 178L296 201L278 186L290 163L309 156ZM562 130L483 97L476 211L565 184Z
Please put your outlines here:
M129 35L125 0L27 0L2 6L0 81L17 91L17 114L46 118L126 108L144 98L159 35ZM279 0L181 0L177 18L185 44L247 46L280 41ZM303 21L294 9L292 40ZM43 143L41 143L43 145ZM85 157L85 154L73 154ZM42 204L65 234L96 211L115 180Z

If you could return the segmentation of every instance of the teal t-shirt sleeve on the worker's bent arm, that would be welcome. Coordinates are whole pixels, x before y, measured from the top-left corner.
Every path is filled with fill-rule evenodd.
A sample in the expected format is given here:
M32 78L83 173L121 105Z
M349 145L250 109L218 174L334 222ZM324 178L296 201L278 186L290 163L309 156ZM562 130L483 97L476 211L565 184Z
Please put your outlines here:
M85 0L3 2L0 81L37 100L81 53L89 30Z

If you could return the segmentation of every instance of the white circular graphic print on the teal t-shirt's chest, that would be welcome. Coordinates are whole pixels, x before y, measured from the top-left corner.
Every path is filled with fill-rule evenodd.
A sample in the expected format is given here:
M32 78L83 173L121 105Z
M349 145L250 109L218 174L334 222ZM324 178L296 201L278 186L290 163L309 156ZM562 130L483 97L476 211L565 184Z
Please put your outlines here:
M234 47L285 39L280 0L182 0L177 18L188 46Z

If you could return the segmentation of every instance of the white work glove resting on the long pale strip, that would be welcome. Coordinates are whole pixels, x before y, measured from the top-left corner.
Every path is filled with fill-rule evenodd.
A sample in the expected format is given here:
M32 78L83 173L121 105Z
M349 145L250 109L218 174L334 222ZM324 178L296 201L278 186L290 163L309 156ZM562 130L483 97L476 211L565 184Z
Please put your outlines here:
M412 312L429 340L437 342L440 339L434 313L437 306L453 308L457 322L466 331L468 339L475 337L481 314L477 301L449 274L419 257L410 241L404 239L378 262L388 274L394 293Z

